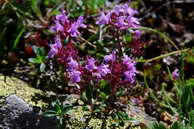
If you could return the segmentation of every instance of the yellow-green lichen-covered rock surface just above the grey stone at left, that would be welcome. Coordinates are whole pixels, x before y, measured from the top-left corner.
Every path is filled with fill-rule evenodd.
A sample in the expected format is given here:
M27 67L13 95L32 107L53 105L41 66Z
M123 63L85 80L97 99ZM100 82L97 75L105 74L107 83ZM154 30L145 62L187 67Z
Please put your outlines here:
M35 89L15 77L0 75L0 96L8 96L10 94L16 94L33 106L43 107L48 105L41 98L37 98L37 96L45 96L43 91Z

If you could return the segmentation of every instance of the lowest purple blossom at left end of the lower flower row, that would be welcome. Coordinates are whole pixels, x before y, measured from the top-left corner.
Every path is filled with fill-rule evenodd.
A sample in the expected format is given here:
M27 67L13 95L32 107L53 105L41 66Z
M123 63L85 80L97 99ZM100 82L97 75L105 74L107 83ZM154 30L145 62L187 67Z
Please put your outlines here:
M68 72L68 74L69 74L71 82L78 83L81 81L81 76L80 76L81 72L80 71L74 70L72 72Z

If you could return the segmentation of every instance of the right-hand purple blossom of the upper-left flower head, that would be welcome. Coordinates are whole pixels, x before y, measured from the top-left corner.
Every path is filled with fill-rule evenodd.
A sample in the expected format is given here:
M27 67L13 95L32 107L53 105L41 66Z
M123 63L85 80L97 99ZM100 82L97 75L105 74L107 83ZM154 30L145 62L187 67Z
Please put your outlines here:
M77 37L80 32L78 31L79 28L86 28L86 25L83 24L83 17L80 16L76 22L74 22L68 32L70 33L71 37Z

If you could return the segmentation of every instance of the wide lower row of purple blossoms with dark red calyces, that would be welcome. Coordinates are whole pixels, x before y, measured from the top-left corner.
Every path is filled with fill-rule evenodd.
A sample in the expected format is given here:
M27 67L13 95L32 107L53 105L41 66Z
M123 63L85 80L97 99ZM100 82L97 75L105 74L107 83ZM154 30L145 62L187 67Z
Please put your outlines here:
M85 65L80 65L76 60L70 58L67 72L72 83L81 82L83 76L83 79L87 77L87 79L90 78L93 81L107 80L116 85L132 84L135 82L138 73L135 65L136 63L127 55L119 60L114 51L106 55L101 63L92 57L88 57Z

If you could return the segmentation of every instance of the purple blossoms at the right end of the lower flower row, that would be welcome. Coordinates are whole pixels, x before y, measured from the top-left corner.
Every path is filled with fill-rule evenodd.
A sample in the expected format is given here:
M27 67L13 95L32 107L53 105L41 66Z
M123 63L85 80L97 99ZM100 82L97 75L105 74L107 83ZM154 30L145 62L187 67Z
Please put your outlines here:
M134 83L136 74L138 73L135 67L136 63L130 57L125 55L123 64L126 66L126 71L124 72L125 81L131 84Z

